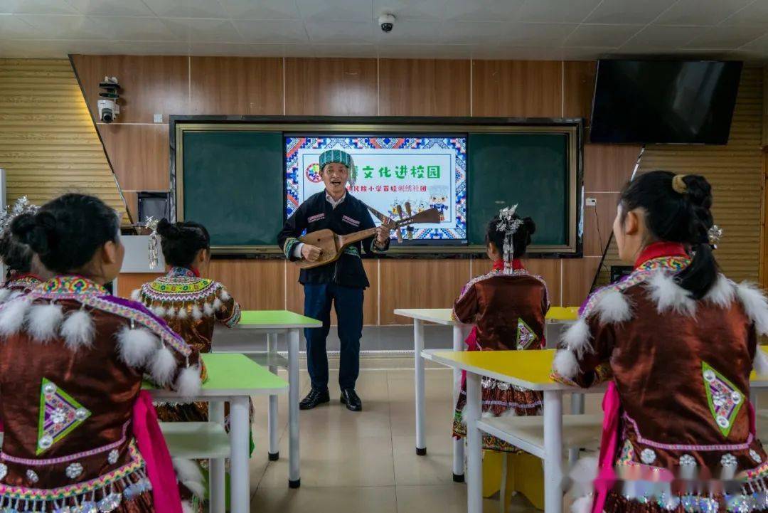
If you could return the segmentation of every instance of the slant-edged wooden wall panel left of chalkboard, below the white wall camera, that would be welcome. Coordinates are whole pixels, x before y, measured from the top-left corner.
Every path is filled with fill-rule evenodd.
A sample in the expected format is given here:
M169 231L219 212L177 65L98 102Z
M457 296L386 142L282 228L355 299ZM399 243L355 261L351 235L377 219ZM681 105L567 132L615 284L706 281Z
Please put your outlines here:
M98 124L109 160L125 190L168 190L167 124Z

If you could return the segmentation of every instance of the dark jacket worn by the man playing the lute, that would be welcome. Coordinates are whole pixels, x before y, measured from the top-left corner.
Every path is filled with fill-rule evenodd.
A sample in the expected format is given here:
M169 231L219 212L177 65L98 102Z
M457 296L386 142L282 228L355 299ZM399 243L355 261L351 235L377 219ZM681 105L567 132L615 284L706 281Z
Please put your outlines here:
M346 235L374 226L376 225L365 204L352 194L346 193L343 202L333 208L323 191L313 194L299 205L277 235L277 243L283 248L286 258L293 262L300 260L293 256L293 248L299 243L298 237L301 237L305 230L313 232L327 228L338 235ZM336 262L301 270L299 283L338 283L355 288L368 287L366 270L360 260L362 250L366 253L382 253L389 248L389 240L383 250L376 247L375 241L376 237L369 237L346 248Z

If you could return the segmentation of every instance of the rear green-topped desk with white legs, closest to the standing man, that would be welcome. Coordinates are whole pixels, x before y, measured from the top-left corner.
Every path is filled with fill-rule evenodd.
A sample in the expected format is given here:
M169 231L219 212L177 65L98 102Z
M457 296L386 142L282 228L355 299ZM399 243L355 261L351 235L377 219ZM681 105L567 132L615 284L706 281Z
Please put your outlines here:
M319 320L310 319L288 310L245 310L240 316L236 329L248 329L256 333L266 333L266 352L253 352L243 347L244 353L260 365L266 366L270 372L277 373L278 367L288 369L288 485L299 488L301 484L299 467L299 339L300 331L304 328L319 328L323 326ZM277 335L286 334L288 342L288 359L277 353ZM270 438L270 460L280 457L277 429L277 396L270 395L270 408L267 414Z

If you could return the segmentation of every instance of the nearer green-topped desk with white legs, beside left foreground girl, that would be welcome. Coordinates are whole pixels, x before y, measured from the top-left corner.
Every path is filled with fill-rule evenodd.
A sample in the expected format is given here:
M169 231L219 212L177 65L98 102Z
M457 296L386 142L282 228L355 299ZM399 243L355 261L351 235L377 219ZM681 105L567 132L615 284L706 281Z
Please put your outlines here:
M223 425L223 403L230 403L230 463L232 513L250 513L250 396L283 393L288 386L283 379L241 354L200 355L208 372L200 394L188 398L210 403L210 422ZM176 392L157 389L144 383L144 389L156 401L178 401ZM187 400L187 399L185 399ZM218 410L218 412L216 411ZM218 417L218 418L217 418ZM184 423L180 423L184 424ZM210 468L210 508L224 512L224 461L212 459Z

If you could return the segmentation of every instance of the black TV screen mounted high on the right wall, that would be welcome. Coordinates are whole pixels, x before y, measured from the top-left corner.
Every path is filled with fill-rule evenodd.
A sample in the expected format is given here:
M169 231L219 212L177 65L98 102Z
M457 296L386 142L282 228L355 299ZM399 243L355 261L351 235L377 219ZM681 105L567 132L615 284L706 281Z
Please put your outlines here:
M738 61L598 61L590 140L727 144Z

